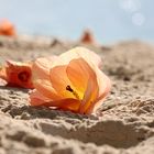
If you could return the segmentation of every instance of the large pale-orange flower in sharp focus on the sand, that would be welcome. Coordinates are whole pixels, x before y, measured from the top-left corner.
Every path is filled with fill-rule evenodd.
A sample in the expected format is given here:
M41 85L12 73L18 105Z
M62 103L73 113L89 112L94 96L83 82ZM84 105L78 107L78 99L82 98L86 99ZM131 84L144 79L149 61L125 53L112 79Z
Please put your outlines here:
M99 64L100 57L84 47L73 48L56 59L36 59L32 66L35 89L30 103L86 114L95 112L111 87Z

